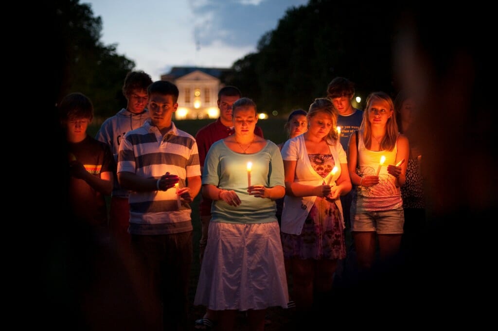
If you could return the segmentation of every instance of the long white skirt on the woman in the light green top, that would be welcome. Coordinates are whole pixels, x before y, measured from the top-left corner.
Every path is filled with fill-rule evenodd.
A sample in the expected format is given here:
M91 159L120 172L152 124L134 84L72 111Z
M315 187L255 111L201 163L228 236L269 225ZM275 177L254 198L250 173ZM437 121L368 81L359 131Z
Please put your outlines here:
M210 222L194 305L246 311L288 301L278 223Z

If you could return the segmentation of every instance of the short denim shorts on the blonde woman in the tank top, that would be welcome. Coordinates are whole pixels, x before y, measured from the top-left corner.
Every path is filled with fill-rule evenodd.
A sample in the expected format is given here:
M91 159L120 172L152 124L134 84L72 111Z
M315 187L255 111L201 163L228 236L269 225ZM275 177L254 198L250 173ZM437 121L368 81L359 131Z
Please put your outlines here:
M378 234L403 233L404 213L399 207L389 211L355 213L351 210L351 231L370 231Z

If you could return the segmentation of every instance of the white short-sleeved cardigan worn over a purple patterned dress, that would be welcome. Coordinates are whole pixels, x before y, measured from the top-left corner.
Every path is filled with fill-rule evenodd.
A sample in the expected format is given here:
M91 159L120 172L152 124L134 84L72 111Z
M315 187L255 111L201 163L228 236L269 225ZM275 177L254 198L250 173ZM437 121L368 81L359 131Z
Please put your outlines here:
M347 163L348 161L346 159L346 152L344 152L344 149L339 142L336 141L335 145L329 145L329 149L334 161L336 162L338 171L334 175L332 175L332 172L329 173L325 178L320 176L315 169L313 169L313 166L308 158L308 152L306 151L304 136L302 134L285 142L282 147L282 159L284 161L297 161L296 173L294 177L295 182L312 186L323 184L336 186L336 180L341 175L340 164ZM306 221L315 200L316 196L292 197L285 195L283 201L281 231L289 234L301 234L304 221ZM341 221L344 225L341 199L337 199L335 203L339 208Z

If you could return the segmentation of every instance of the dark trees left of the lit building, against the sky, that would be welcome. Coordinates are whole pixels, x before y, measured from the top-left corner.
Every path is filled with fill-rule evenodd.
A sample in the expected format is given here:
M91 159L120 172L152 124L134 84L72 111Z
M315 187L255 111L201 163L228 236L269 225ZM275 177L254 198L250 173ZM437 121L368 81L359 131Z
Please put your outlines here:
M71 92L82 92L93 102L95 113L108 117L126 105L121 92L133 61L116 52L116 45L101 41L102 18L79 0L54 2L55 102Z

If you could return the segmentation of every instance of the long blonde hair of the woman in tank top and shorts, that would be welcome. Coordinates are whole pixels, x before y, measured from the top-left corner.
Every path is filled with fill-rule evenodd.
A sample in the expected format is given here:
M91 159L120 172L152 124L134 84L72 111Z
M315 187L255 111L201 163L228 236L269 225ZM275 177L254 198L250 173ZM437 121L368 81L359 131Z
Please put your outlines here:
M369 112L370 107L372 106L372 102L374 100L384 101L389 105L389 110L391 110L391 116L387 118L387 122L385 123L385 135L380 141L380 149L381 150L392 150L396 145L396 140L398 138L398 124L396 123L396 116L394 114L394 104L392 102L391 97L385 92L377 91L372 92L367 97L367 106L365 107L365 111L363 112L363 120L360 125L360 131L363 131L363 141L365 142L365 146L370 148L372 145L372 124L369 121Z

